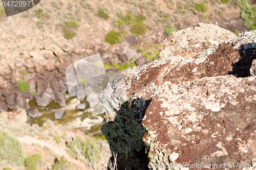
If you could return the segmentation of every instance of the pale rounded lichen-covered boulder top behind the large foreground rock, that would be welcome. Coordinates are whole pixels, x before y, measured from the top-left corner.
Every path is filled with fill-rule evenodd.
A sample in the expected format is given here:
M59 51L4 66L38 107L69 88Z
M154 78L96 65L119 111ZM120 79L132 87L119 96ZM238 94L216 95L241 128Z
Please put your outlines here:
M209 23L199 23L197 27L189 27L174 32L164 40L164 48L160 58L180 55L188 58L207 48L229 40L235 34Z

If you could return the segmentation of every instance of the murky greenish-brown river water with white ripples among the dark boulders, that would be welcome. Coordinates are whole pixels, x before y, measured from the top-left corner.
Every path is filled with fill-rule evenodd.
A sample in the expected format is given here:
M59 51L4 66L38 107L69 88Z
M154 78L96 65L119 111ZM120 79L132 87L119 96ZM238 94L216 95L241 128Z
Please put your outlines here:
M37 106L34 100L29 101L30 107L37 107L40 112L39 117L30 118L29 123L38 124L42 126L48 119L51 119L55 124L61 124L65 129L81 130L86 134L93 136L102 136L100 131L104 113L93 116L90 110L89 103L84 100L81 104L85 104L87 107L85 110L78 110L76 106L80 104L77 98L70 97L69 94L65 94L66 106L60 107L55 101L52 101L47 107ZM48 109L49 110L48 110ZM65 113L59 120L55 120L54 113L55 109L64 109Z

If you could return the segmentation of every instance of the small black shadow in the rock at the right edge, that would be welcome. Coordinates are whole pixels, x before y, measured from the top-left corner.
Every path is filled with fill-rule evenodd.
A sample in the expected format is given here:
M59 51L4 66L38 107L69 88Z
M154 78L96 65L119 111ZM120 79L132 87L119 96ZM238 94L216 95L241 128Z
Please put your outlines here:
M241 59L238 62L232 64L233 69L232 71L228 72L228 75L245 78L250 76L252 60L256 59L256 43L253 42L241 45L239 54Z

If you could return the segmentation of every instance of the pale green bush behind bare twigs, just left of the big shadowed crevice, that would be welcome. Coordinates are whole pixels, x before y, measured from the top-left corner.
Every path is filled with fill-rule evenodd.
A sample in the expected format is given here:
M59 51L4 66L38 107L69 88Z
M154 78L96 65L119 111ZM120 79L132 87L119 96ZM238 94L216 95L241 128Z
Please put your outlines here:
M80 135L78 135L75 138L76 141L76 146L79 149L82 149L82 156L88 160L89 162L91 161L91 152L95 154L95 161L98 162L100 160L100 145L96 142L96 139L90 136L87 136L86 139L82 139ZM91 147L91 152L90 152L90 147ZM72 141L69 140L67 144L67 152L72 158L78 159L77 151L74 149L74 145L72 144ZM93 161L92 161L93 162ZM94 166L94 165L93 165Z

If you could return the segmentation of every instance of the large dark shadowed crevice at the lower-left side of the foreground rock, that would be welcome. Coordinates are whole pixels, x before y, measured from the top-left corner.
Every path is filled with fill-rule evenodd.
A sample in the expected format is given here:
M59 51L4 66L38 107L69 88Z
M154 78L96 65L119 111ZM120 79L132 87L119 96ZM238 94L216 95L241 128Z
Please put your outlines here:
M117 169L148 169L149 148L143 140L145 128L141 123L150 102L151 100L134 99L123 103L119 110L115 110L115 120L104 123L101 127L111 151L114 151L114 155L117 154ZM112 153L111 162L114 162L114 155Z

